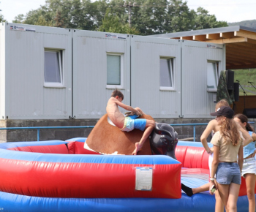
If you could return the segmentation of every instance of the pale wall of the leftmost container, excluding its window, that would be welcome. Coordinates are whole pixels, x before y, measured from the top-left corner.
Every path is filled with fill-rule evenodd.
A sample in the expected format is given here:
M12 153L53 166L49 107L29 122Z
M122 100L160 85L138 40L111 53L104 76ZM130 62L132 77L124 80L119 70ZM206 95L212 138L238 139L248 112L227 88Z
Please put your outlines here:
M72 34L66 29L7 26L7 114L8 118L69 118L71 116ZM63 50L63 88L44 87L45 48ZM49 92L50 91L50 92Z

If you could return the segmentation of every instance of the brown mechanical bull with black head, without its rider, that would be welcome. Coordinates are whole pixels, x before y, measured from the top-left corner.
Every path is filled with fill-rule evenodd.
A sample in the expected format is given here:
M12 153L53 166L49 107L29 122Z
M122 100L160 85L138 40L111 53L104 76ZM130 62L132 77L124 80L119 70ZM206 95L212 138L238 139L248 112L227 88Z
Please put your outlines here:
M154 120L151 116L144 115L140 118ZM121 132L107 114L99 119L86 140L84 148L99 154L124 154L131 155L135 143L140 141L143 132L133 129L131 132ZM169 124L157 123L154 131L138 151L138 155L162 154L175 157L175 148L178 143L178 134Z

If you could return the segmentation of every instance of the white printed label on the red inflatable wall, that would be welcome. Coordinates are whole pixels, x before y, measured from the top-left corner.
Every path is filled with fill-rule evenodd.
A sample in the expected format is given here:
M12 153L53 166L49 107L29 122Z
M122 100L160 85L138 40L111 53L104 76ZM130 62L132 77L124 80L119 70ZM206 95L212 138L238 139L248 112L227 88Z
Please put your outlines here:
M152 190L152 167L136 167L135 190L151 191Z

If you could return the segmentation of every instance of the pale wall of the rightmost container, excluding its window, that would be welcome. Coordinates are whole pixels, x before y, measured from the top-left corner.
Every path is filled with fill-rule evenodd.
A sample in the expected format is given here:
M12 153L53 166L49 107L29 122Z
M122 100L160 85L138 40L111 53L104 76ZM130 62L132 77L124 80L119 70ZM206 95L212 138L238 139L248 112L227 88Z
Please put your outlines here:
M223 45L204 42L182 42L182 115L184 118L210 118L214 110L214 95L207 91L207 62L219 61L219 70L225 67Z

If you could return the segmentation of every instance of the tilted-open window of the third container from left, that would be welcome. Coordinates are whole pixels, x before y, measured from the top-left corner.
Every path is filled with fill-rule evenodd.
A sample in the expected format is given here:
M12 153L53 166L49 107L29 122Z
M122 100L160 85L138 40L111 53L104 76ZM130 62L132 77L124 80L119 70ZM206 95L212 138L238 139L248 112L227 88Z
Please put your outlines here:
M173 58L160 58L160 89L174 89Z

